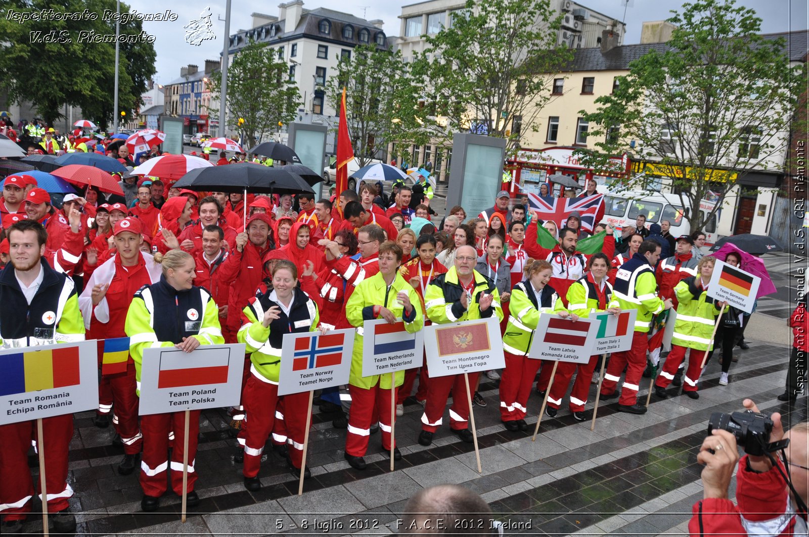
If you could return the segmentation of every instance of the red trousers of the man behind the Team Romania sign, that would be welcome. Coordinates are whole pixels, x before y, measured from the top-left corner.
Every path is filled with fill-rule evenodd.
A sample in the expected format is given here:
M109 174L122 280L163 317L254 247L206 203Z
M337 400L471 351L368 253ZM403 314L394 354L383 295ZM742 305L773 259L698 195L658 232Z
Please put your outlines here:
M67 450L73 438L73 415L42 419L45 492L48 512L66 510L73 496L67 483ZM0 425L0 513L4 520L22 520L31 512L34 480L28 468L28 450L36 438L36 420ZM40 480L36 478L40 492Z

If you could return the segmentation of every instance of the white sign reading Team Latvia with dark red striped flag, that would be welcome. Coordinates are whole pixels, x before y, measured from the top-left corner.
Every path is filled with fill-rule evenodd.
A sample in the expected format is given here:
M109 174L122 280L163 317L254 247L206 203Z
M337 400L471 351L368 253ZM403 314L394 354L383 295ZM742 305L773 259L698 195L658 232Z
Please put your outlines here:
M558 315L540 315L534 340L527 356L556 362L586 364L595 354L595 335L599 324L592 319L562 319Z

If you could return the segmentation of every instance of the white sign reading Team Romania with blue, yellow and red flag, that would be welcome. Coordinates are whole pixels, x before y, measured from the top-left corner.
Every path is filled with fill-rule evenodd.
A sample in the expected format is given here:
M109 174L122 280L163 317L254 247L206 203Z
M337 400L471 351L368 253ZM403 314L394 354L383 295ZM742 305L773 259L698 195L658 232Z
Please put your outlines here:
M0 351L0 425L98 408L95 341Z

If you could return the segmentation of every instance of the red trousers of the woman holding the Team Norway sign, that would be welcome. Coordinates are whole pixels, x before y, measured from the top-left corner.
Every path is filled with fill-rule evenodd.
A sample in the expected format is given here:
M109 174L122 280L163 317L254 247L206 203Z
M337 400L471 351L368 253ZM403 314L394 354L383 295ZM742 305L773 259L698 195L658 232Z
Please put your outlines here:
M303 461L303 437L306 433L306 409L309 405L309 392L284 395L286 408L292 409L283 415L287 442L290 444L290 459L294 467L301 467ZM245 477L255 477L261 466L261 455L270 433L276 423L278 408L278 385L265 383L251 374L247 386L242 392L244 403L244 426L239 431L239 438L244 439ZM294 412L297 410L298 412Z

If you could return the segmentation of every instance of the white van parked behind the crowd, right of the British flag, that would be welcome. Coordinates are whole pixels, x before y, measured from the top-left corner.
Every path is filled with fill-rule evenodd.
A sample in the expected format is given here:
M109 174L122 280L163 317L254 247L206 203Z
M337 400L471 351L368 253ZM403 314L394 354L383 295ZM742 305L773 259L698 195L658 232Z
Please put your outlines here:
M601 188L599 188L599 192ZM714 202L703 200L700 204L702 218L705 218L712 209ZM604 222L608 222L616 230L623 226L634 226L638 214L646 215L646 227L650 224L659 224L663 220L671 222L669 233L675 237L691 233L691 226L684 214L690 211L683 210L680 196L677 194L661 192L644 192L625 190L621 192L604 192ZM718 214L714 214L703 226L705 242L712 244L718 240L716 222Z

